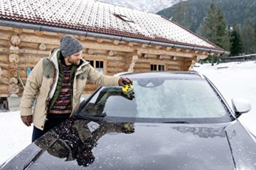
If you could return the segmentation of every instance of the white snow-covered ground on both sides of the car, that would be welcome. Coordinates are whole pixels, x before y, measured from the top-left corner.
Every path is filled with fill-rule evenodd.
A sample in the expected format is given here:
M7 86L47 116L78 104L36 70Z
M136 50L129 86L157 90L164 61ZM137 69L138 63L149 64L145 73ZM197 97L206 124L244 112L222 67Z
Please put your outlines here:
M220 68L227 67L227 68ZM206 75L230 104L231 98L246 98L252 111L239 120L256 135L256 62L232 62L195 67ZM21 122L18 111L0 113L0 164L31 143L32 127Z

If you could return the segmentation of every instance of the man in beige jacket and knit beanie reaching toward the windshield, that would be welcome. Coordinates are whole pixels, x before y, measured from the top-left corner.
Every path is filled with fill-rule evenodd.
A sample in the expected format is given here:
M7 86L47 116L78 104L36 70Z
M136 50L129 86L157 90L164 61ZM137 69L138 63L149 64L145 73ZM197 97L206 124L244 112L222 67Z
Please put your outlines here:
M82 60L82 45L65 35L60 47L36 64L29 74L21 98L21 120L33 123L32 142L78 111L86 80L99 86L125 86L123 77L110 77L97 72ZM32 113L33 101L36 105Z

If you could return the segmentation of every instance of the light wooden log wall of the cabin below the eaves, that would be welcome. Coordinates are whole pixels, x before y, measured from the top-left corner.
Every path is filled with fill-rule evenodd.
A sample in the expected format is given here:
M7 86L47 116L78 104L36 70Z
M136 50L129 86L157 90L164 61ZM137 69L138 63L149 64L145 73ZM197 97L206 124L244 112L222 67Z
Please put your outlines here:
M65 34L0 26L0 97L22 96L26 70L32 68L51 49L59 47ZM134 42L73 35L82 43L85 60L105 62L104 73L149 72L150 64L164 64L166 71L188 71L207 53ZM137 60L133 60L137 56ZM87 83L83 94L91 94L97 85Z

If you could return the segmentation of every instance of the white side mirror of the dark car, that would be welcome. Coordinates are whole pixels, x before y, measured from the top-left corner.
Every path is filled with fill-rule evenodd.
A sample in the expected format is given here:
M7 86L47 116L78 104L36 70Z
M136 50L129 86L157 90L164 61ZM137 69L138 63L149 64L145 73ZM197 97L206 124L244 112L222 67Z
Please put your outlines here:
M247 113L252 110L252 106L249 101L242 98L232 98L231 99L233 111L235 115L239 117L242 113Z

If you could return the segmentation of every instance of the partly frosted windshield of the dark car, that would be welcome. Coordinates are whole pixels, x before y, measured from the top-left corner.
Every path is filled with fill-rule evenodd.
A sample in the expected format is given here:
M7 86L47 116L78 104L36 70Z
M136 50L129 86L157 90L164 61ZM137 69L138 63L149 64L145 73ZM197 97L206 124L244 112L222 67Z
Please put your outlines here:
M78 113L100 120L156 123L225 123L228 109L206 79L132 79L133 90L102 87Z

